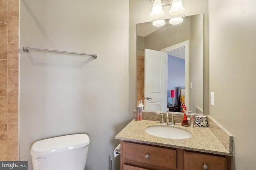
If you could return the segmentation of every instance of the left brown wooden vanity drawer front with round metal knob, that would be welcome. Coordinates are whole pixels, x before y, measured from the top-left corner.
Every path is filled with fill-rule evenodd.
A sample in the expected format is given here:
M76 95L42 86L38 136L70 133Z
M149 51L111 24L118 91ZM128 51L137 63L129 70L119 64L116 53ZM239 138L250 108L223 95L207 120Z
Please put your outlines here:
M176 150L137 143L123 143L123 159L176 169Z

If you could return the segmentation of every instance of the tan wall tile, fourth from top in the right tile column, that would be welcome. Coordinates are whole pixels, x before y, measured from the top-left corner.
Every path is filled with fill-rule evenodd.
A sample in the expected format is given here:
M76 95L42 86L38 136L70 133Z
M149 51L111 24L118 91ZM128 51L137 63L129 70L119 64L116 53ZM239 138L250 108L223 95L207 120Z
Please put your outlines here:
M8 96L18 96L19 72L16 69L8 69Z

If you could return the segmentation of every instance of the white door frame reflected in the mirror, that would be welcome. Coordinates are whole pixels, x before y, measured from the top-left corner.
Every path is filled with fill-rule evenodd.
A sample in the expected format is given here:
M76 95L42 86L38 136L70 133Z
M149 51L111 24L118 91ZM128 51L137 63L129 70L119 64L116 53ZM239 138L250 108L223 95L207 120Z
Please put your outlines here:
M190 99L190 94L189 94L189 88L190 88L190 84L189 84L189 70L190 70L190 57L189 57L189 40L183 41L181 43L172 45L170 47L166 47L164 49L161 49L162 52L168 53L170 51L174 51L180 48L185 47L185 104L189 110L189 99ZM167 77L166 77L167 80ZM166 87L167 87L167 81L166 81Z

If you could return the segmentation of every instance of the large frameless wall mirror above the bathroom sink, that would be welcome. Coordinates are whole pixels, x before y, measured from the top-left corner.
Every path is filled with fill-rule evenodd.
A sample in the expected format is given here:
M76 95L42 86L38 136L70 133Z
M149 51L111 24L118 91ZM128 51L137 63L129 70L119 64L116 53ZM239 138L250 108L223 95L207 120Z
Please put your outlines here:
M184 59L186 49L174 50L177 44L189 42L188 58ZM184 21L178 25L170 25L168 20L162 27L154 27L152 22L137 24L137 101L142 100L145 105L144 94L146 84L144 84L145 63L144 49L164 51L168 53L168 63L179 61L181 64L168 64L166 78L166 100L172 104L170 96L171 90L176 90L174 106L169 107L170 111L180 112L180 90L185 89L185 104L188 111L192 113L203 113L203 45L204 45L204 14L186 16ZM172 49L166 51L166 49ZM183 53L183 54L182 54ZM182 64L183 63L183 64ZM185 64L188 63L188 64ZM185 70L184 70L185 68ZM187 75L185 77L185 72ZM184 93L184 90L182 90ZM147 101L146 101L147 102ZM166 102L166 110L167 110ZM144 106L145 107L145 106ZM172 108L178 107L178 109ZM145 109L146 110L146 109ZM148 110L148 111L166 111Z

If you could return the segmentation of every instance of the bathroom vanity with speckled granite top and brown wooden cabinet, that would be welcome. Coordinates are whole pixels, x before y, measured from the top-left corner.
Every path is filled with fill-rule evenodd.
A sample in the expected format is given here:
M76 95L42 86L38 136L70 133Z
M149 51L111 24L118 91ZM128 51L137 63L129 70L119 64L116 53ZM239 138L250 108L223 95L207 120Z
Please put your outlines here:
M146 133L147 127L167 126L158 118L132 120L116 135L121 143L121 170L231 170L233 136L211 117L209 127L183 127L180 123L170 127L189 131L192 137L186 139Z

